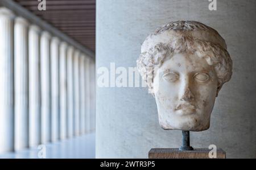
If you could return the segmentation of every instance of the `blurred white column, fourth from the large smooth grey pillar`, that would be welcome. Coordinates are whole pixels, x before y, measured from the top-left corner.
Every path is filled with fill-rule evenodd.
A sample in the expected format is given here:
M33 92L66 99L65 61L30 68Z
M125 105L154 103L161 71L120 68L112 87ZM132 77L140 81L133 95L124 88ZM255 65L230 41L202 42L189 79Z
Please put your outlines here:
M75 136L79 135L80 129L80 76L79 76L79 65L80 65L80 52L78 50L74 53L74 92L75 92L75 121L74 121L74 132Z

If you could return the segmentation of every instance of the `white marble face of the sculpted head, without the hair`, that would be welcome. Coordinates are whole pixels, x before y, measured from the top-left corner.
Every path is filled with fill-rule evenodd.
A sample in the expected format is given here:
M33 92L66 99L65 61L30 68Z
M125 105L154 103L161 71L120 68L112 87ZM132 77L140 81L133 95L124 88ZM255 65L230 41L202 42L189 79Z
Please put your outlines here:
M195 53L166 57L154 78L160 126L202 131L210 125L217 94L214 68Z

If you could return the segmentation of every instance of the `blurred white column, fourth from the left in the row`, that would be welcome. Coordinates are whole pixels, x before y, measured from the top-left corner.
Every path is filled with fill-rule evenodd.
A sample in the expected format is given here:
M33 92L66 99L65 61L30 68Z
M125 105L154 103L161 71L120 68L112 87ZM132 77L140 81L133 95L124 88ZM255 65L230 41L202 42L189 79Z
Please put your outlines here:
M40 39L40 61L41 61L41 142L50 141L50 114L51 114L51 78L50 78L50 52L48 32L43 31Z

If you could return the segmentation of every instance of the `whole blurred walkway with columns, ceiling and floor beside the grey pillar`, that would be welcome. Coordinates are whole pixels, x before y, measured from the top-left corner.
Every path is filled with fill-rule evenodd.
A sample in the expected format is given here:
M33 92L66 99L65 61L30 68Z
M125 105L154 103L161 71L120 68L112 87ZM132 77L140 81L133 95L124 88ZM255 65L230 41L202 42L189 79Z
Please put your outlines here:
M95 157L95 24L95 0L0 0L0 158Z

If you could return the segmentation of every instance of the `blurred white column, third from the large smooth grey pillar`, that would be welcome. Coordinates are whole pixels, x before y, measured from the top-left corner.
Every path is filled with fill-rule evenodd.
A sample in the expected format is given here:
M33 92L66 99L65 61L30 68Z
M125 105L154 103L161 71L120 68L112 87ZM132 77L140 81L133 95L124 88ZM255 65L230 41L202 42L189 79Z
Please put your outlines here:
M85 132L85 56L80 55L80 134Z

